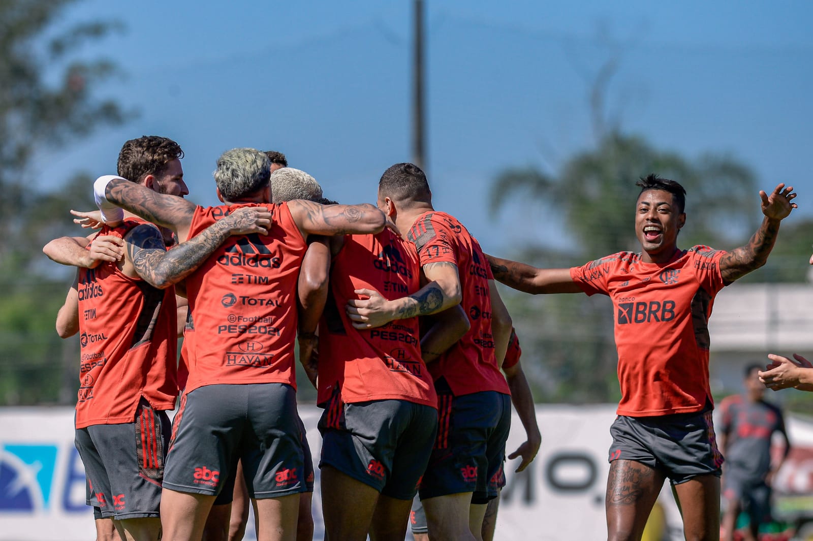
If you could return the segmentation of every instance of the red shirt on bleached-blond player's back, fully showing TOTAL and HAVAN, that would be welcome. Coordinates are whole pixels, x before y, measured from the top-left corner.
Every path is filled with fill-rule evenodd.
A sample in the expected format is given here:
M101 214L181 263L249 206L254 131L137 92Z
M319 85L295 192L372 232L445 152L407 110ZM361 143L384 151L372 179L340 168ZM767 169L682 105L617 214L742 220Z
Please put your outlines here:
M232 210L195 209L189 238ZM287 203L267 235L232 236L186 278L186 392L215 383L288 383L296 387L297 281L307 245Z

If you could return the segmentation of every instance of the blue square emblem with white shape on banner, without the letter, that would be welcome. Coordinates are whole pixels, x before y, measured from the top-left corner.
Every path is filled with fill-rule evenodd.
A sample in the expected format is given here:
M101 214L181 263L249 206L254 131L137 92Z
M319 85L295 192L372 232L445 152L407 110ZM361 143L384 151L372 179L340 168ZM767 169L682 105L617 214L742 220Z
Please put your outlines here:
M57 451L55 445L0 448L0 511L48 509Z

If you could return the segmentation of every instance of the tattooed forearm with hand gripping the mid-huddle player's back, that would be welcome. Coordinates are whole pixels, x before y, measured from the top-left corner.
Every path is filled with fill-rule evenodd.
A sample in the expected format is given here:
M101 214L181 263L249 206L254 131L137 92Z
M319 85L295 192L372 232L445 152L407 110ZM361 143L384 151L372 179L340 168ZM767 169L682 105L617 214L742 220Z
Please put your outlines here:
M386 300L372 289L356 289L367 299L350 299L347 302L347 315L357 329L381 327L394 319L414 318L437 314L463 298L460 293L460 278L457 265L449 262L428 263L423 273L429 282L410 296L402 296L392 301Z

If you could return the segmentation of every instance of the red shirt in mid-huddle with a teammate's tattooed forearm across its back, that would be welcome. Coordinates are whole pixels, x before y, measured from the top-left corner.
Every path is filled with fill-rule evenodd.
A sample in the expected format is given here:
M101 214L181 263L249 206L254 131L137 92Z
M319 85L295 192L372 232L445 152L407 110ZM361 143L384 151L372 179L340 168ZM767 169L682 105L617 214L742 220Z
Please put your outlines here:
M418 318L397 319L359 331L345 305L354 290L375 289L388 300L420 289L415 246L389 229L345 236L333 258L330 298L320 321L319 396L324 405L337 390L347 404L407 400L437 408L432 376L420 355Z

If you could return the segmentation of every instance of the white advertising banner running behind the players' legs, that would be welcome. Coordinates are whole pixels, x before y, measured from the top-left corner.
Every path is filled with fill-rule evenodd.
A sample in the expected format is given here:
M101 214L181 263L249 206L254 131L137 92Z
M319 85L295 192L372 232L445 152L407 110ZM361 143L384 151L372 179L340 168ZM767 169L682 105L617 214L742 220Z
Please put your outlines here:
M316 422L321 410L302 405L300 412L318 464ZM520 459L506 463L496 539L606 538L606 453L614 418L615 405L537 405L542 447L521 474L514 473ZM524 441L519 418L514 416L512 423L507 452ZM789 431L798 460L786 464L777 484L810 493L813 452L807 446L813 445L813 425L790 419ZM323 539L318 469L315 481L315 539ZM680 517L669 500L664 500L669 534L682 539ZM0 409L0 523L0 541L93 539L93 513L85 506L85 473L73 445L72 409ZM254 539L252 525L253 519L246 539Z

